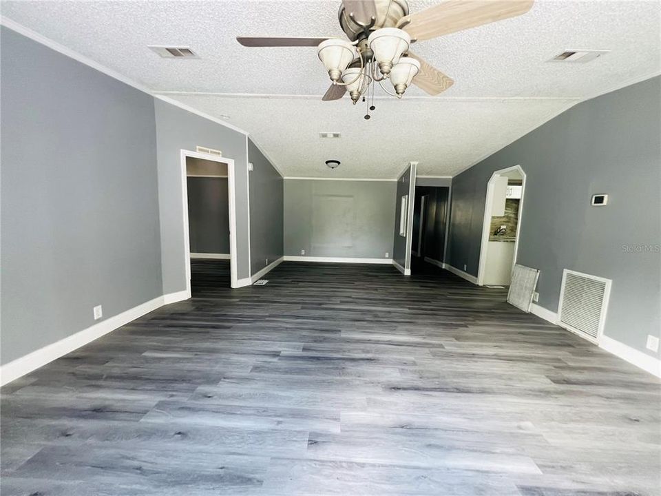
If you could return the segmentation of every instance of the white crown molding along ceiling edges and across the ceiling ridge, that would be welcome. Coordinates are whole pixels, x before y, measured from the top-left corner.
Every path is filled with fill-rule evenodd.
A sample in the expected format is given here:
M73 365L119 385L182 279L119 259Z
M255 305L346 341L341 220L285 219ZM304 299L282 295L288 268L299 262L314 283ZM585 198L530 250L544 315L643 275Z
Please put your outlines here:
M147 94L150 94L154 96L155 98L158 98L162 101L167 101L167 103L171 103L171 105L176 105L177 107L182 108L183 110L187 110L188 112L192 112L193 114L196 114L202 118L206 118L209 121L213 121L214 123L218 123L219 125L222 125L224 127L227 127L231 130L235 130L237 132L240 132L246 136L246 139L250 136L251 141L255 144L255 146L264 154L264 156L273 164L273 167L277 169L277 171L280 173L283 178L286 179L328 179L328 180L397 180L397 178L349 178L349 177L342 177L342 178L326 178L326 177L318 177L318 176L304 176L304 177L299 177L299 176L291 176L288 177L283 173L283 169L281 167L278 167L277 163L273 161L272 158L269 157L269 155L264 151L264 148L261 147L256 141L251 134L245 130L242 130L240 127L237 127L235 125L231 125L230 123L227 123L225 121L222 121L222 119L217 118L207 112L203 112L202 110L198 110L195 107L192 107L191 105L187 105L186 103L183 103L181 101L176 100L176 96L186 96L186 95L196 95L196 96L220 96L222 98L243 98L243 99L250 99L250 98L255 98L255 99L307 99L307 100L316 100L319 99L321 95L319 96L311 96L311 95L285 95L285 94L236 94L236 93L204 93L204 92L167 92L167 91L155 91L152 90L151 88L137 83L136 81L133 81L132 79L129 79L127 76L124 74L120 74L119 72L112 70L110 68L107 68L107 66L102 65L101 63L98 63L94 61L93 59L90 59L89 57L80 54L79 52L76 52L75 50L72 50L65 45L62 45L61 43L58 43L48 37L43 36L42 34L39 34L38 32L35 32L34 30L31 30L30 28L25 27L24 25L21 25L20 23L17 23L16 21L13 21L12 19L9 19L6 16L0 16L0 23L7 28L14 30L16 32L19 32L19 34L23 34L23 36L28 37L38 43L41 43L42 45L48 46L52 50L55 50L56 52L60 52L61 54L64 54L65 56L69 56L70 58L79 61L81 63L84 63L85 65L90 66L91 68L94 68L98 70L99 72L103 72L107 76L111 76L114 79L117 79L118 81L122 81L123 83L130 85L132 87L135 87L136 89L143 91ZM435 99L437 101L439 100L445 100L445 101L456 101L456 102L472 102L472 101L489 101L489 100L494 100L494 101L503 101L503 100L512 100L512 101L517 101L517 100L562 100L565 101L565 103L569 103L569 105L566 105L563 108L560 108L557 112L554 112L548 116L546 116L545 121L541 123L536 123L532 125L529 129L525 130L523 133L519 133L516 138L512 139L509 143L505 143L505 145L500 144L497 148L492 149L477 160L472 161L463 169L454 172L451 176L424 176L424 177L453 177L457 176L458 174L461 174L461 172L465 171L466 169L470 169L473 165L476 163L479 163L483 161L485 158L488 156L491 156L495 152L498 152L499 149L502 149L503 147L509 145L510 143L513 143L516 141L518 138L521 138L521 136L524 136L525 134L531 132L532 130L536 129L537 127L540 127L544 123L550 121L552 118L556 117L557 115L567 111L569 108L573 107L577 103L587 101L589 99L596 98L597 96L600 96L602 94L607 94L609 92L613 92L616 90L619 90L622 87L626 87L635 83L638 83L640 81L644 81L646 79L650 79L654 76L658 76L661 74L661 71L656 70L651 72L650 74L645 74L644 76L638 76L635 78L628 79L626 81L620 81L619 83L611 85L611 87L608 87L606 90L600 90L598 92L594 92L594 94L590 94L589 96L585 97L535 97L535 96L523 96L523 97L448 97L448 96L441 96L441 97L431 97L431 96L409 96L408 99L415 101L415 100L426 100L426 99ZM379 98L380 99L380 98ZM385 99L385 98L384 98ZM423 176L420 176L423 177Z

